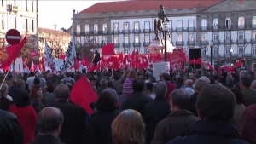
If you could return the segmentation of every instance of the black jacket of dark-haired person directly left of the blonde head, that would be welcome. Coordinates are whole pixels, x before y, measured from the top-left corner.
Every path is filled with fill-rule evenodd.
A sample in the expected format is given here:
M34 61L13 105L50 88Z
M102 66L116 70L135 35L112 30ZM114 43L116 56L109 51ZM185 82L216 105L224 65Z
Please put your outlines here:
M111 124L119 115L117 111L98 111L91 115L89 140L90 144L113 144Z

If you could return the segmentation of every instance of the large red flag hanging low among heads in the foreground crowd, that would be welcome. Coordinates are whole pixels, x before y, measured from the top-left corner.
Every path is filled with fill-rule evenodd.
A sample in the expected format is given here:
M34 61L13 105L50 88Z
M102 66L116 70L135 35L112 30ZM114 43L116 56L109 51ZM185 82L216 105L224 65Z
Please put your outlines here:
M84 107L84 110L89 114L93 113L90 103L97 100L97 95L84 75L74 84L70 93L70 100L80 107Z

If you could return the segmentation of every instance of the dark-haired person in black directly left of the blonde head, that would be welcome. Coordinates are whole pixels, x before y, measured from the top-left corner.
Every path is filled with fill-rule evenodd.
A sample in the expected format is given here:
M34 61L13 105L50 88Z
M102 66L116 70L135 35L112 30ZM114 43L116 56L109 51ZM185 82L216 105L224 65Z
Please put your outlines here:
M108 92L102 92L96 101L97 112L90 118L90 144L113 144L111 124L119 115L115 107L115 99Z

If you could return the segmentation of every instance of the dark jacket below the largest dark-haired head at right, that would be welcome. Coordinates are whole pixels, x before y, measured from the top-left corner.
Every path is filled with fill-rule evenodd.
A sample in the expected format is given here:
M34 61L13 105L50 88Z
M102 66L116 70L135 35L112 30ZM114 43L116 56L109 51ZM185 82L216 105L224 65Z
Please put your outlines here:
M241 141L233 124L200 120L168 144L248 144Z

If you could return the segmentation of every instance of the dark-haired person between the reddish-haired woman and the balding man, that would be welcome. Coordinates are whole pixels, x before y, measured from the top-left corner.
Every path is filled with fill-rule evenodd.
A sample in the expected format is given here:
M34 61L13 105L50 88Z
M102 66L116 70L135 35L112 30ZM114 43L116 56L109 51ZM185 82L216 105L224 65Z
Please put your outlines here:
M55 104L55 85L49 81L46 85L46 92L41 97L41 103L44 107L53 107Z

